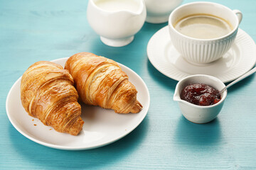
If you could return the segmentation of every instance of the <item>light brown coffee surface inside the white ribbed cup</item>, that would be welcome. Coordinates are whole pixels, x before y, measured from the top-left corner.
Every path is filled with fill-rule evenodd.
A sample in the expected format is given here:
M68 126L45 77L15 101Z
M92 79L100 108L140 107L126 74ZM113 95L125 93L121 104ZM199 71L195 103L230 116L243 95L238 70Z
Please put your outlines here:
M183 17L174 24L174 28L183 35L198 39L220 38L233 30L225 19L206 13Z

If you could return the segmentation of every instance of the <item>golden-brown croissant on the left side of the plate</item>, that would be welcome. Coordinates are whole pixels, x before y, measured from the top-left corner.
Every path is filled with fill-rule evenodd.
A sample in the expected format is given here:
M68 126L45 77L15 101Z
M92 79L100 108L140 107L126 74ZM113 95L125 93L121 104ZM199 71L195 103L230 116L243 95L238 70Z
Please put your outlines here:
M78 135L84 122L73 84L73 77L59 64L36 62L21 78L23 108L58 132Z

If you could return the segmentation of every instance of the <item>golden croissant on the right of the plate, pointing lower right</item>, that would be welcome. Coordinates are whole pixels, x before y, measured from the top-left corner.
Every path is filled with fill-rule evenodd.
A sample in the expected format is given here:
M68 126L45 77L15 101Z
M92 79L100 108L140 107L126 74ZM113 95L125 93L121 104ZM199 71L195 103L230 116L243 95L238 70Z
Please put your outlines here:
M117 62L80 52L65 63L75 81L81 100L92 106L113 109L116 113L139 113L137 90Z

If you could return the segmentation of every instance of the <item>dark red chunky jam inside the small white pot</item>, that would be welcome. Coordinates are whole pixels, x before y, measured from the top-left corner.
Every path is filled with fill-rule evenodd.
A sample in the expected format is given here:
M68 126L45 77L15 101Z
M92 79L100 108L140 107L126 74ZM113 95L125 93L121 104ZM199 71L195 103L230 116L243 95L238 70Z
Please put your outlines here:
M206 84L189 84L182 89L181 99L199 106L210 106L220 101L220 94Z

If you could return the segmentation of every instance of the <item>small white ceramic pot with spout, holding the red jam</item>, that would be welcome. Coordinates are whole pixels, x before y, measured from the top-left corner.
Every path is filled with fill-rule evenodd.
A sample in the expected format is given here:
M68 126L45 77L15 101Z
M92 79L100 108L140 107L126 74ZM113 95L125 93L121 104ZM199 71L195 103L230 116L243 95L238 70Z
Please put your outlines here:
M218 113L220 113L221 108L223 108L225 98L228 94L227 90L225 90L223 94L220 95L221 99L218 103L210 106L198 106L181 99L181 91L188 84L207 84L208 86L212 86L218 91L223 89L225 84L223 84L220 79L215 77L197 74L185 77L178 81L174 91L174 101L178 101L178 105L181 108L181 113L187 120L193 123L208 123L215 119Z

